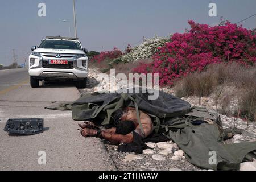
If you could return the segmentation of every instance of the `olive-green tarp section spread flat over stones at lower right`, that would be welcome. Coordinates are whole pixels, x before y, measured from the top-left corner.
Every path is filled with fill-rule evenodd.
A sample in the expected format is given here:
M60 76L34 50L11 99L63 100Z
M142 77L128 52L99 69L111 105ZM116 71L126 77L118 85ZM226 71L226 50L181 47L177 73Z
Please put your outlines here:
M256 142L223 144L218 127L207 123L189 123L176 132L169 130L166 137L177 143L190 163L204 169L239 170L245 156L256 150Z

